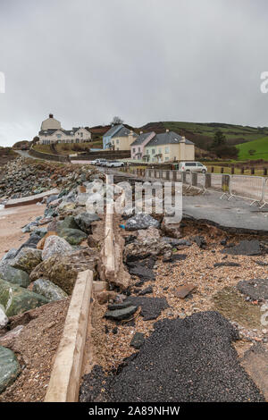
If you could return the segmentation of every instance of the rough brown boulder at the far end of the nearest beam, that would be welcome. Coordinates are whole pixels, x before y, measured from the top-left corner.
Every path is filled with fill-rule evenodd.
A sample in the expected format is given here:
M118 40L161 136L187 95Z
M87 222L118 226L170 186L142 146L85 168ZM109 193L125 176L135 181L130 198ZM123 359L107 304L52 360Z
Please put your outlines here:
M85 270L96 273L98 260L97 253L93 249L80 249L68 252L64 256L56 254L39 264L30 273L29 278L31 281L40 277L49 279L70 295L78 273Z

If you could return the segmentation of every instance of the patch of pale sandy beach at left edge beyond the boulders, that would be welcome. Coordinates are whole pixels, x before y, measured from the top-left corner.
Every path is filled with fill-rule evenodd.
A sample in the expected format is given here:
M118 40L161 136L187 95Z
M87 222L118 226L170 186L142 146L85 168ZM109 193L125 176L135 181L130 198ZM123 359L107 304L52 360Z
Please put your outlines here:
M29 238L21 227L43 215L46 206L29 205L1 209L0 207L0 258L11 248L19 248Z

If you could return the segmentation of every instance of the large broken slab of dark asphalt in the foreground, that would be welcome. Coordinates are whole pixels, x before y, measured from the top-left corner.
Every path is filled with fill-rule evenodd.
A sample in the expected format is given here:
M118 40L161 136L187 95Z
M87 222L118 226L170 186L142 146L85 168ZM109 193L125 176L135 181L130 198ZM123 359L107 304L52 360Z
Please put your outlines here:
M86 375L80 401L264 401L239 365L234 340L238 332L217 312L164 319L118 374L105 378L96 367Z

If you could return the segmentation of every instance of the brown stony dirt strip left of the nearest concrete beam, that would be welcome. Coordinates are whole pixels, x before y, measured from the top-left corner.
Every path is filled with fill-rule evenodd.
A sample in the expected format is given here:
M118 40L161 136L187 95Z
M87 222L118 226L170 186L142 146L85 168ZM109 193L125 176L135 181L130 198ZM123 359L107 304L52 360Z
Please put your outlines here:
M70 298L58 300L10 318L12 327L26 323L11 347L21 374L1 394L0 402L43 401L69 303Z

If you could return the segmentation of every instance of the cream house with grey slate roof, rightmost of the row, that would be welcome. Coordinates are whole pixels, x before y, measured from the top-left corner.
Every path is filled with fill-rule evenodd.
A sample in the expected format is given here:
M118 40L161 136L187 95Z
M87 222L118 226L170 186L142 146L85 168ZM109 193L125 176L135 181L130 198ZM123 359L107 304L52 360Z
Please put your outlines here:
M174 131L166 130L147 143L143 159L150 163L192 161L195 160L195 145Z

